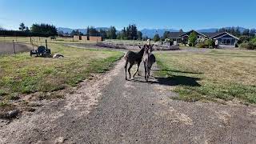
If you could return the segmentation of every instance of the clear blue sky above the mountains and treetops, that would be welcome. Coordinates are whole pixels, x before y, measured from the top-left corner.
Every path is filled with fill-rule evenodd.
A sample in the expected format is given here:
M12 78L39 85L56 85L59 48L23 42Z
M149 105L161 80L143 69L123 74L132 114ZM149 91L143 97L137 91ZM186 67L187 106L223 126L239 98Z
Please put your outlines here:
M0 26L19 23L58 27L116 26L198 30L256 27L256 0L0 0Z

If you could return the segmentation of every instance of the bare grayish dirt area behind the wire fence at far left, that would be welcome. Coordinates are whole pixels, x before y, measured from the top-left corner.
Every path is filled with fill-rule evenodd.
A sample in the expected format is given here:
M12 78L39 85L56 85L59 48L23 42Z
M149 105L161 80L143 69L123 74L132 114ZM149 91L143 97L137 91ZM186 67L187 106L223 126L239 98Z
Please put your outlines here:
M16 53L26 52L32 50L32 46L24 43L2 43L0 42L0 55L2 54L14 54L14 48Z

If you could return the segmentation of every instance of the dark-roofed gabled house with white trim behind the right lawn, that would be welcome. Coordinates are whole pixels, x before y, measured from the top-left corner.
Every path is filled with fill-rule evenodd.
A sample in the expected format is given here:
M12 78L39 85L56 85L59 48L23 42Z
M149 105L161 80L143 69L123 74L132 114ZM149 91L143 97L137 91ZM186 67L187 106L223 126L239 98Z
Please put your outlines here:
M190 30L189 32L171 32L170 39L174 42L182 43L188 42L189 36L192 32L195 32L198 35L198 39L213 39L215 45L218 47L235 47L238 43L239 38L235 37L232 34L227 32L221 33L200 33L196 30Z

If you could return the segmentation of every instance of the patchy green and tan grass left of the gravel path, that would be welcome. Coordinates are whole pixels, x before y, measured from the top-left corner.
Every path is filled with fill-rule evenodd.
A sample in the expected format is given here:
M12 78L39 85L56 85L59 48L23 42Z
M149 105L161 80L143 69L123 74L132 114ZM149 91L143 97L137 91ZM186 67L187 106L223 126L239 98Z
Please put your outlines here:
M59 44L49 47L53 54L65 57L37 58L30 57L29 53L0 57L0 102L77 86L90 78L90 74L109 70L123 55L116 51L83 50Z

